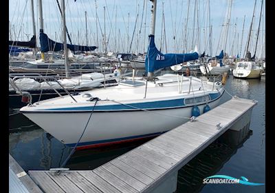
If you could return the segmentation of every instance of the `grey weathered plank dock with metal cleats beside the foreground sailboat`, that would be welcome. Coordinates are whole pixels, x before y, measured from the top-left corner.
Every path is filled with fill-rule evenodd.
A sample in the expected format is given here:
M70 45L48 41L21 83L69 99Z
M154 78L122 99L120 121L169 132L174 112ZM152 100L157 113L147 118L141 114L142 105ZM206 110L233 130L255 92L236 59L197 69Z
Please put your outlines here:
M248 128L256 103L232 98L94 170L29 174L43 192L175 192L177 171L226 130Z

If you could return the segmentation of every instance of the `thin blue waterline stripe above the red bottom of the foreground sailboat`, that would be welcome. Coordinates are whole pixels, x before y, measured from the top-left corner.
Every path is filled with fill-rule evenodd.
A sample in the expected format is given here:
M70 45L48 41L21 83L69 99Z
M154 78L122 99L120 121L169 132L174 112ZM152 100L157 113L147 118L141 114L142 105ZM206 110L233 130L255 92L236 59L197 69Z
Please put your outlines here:
M167 132L167 131L164 131L164 132ZM100 141L83 142L83 143L78 143L78 147L85 146L85 145L96 145L96 144L100 144L100 143L111 143L111 142L116 142L116 141L124 141L124 140L129 140L129 139L138 139L138 138L143 138L143 137L156 136L159 134L163 134L164 132L156 132L156 133L142 134L142 135L136 135L136 136L127 136L127 137L122 137L122 138L117 138L117 139L104 139L104 140L100 140ZM76 145L76 143L69 143L66 145L69 147L74 147L74 145Z

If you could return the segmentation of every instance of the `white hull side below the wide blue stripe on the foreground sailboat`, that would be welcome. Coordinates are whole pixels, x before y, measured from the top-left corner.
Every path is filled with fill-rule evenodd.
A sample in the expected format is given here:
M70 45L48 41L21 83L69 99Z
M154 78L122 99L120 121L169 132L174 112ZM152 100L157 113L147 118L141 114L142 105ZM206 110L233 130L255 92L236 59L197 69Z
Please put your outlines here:
M217 107L219 100L220 98L208 103L210 109ZM198 105L200 113L203 112L205 105L205 103ZM94 112L78 144L78 149L161 134L189 121L179 117L190 117L191 110L192 106L151 110L151 112L142 110ZM23 114L62 143L74 146L85 129L91 112L23 112Z

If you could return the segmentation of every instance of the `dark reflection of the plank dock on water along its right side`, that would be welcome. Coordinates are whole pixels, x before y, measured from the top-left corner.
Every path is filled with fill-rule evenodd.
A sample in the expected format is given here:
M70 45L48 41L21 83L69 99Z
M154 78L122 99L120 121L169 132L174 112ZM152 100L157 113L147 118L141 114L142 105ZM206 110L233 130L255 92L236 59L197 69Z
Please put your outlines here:
M176 192L201 192L203 179L217 174L252 135L250 123L240 131L228 130L178 172Z

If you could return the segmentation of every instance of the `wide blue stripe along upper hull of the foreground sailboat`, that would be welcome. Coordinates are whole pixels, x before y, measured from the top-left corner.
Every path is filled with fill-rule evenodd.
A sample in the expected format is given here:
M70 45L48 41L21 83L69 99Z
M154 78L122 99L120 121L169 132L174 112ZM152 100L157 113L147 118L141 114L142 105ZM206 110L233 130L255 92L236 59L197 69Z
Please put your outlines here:
M218 93L212 93L209 94L212 102L216 99L218 99L222 94L220 92ZM205 101L202 103L206 103ZM131 105L135 108L132 108L128 105ZM184 103L184 99L173 99L168 101L152 101L152 102L145 102L145 103L130 103L126 105L96 105L94 111L117 111L117 110L140 110L140 109L146 109L146 110L152 110L152 109L160 109L160 108L180 108L180 107L187 107L192 106L195 104L186 105ZM58 110L58 111L64 111L64 112L71 112L71 111L89 111L94 108L94 104L91 104L90 106L86 107L74 107L74 108L50 108L46 110L41 111L52 111L52 110Z

